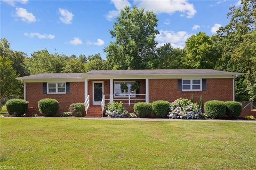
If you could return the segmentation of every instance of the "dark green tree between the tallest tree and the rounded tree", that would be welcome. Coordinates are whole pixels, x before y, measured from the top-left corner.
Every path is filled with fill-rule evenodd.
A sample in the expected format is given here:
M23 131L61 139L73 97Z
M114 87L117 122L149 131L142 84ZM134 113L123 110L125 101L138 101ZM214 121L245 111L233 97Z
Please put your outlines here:
M181 69L181 60L185 51L180 48L173 48L167 43L157 48L156 58L151 60L152 69Z

